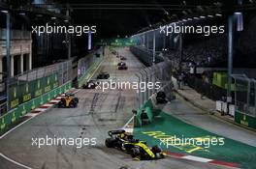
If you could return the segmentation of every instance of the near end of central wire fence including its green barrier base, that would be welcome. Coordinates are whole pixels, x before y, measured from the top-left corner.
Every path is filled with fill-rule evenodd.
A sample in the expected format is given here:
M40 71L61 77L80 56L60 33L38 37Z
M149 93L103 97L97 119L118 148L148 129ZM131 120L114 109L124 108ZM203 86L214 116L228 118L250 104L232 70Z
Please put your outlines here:
M159 114L161 107L155 105L153 99L157 92L165 92L167 99L174 99L173 82L172 82L172 63L170 61L161 62L152 67L145 68L136 73L138 83L155 84L158 83L158 88L140 88L138 91L138 107L137 115L135 116L135 127L142 126L142 116L145 113L148 118L148 123L153 121L153 118Z

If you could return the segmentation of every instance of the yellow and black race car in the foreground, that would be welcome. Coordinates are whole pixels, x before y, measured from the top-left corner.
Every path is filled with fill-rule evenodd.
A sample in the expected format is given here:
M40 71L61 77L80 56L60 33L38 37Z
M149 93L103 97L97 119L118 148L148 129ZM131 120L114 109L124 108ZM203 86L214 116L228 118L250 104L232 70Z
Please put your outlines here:
M139 139L134 139L133 135L128 135L125 130L109 131L110 138L105 140L105 145L108 148L116 148L130 154L137 160L160 159L164 158L165 154L158 146L149 148L146 142Z

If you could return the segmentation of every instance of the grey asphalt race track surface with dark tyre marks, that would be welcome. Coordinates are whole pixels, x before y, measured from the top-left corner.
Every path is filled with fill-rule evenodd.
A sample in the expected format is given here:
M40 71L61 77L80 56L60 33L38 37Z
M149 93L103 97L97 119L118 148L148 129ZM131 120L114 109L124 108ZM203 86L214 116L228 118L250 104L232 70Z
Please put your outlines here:
M136 80L134 72L144 66L128 49L118 49L127 57L128 70L117 70L119 59L108 54L98 71L108 71L111 79ZM94 77L98 74L95 73ZM107 131L122 127L136 107L136 91L81 89L76 97L79 107L73 109L51 108L31 121L17 127L0 140L0 153L14 161L0 157L1 169L24 168L21 163L39 169L133 169L160 168L224 168L208 163L167 157L160 160L135 161L130 155L105 147ZM92 146L32 146L32 138L96 138Z

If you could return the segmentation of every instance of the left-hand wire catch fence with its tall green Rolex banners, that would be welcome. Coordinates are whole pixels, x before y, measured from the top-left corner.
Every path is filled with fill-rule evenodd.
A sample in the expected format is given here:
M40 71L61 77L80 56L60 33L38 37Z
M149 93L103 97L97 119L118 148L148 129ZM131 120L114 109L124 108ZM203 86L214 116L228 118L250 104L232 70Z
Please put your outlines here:
M10 78L3 94L6 102L0 105L1 115L19 104L38 98L49 91L66 84L72 79L72 61L61 62L36 70L28 70ZM6 98L2 95L2 98Z

